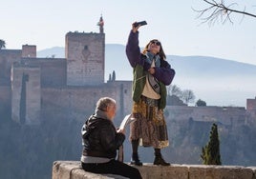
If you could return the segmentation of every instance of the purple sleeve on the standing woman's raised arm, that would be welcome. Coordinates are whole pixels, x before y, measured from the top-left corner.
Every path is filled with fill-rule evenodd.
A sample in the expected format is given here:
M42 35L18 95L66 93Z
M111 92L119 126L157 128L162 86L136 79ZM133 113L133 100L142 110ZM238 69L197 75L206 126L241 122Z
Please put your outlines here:
M140 50L139 50L139 31L134 33L130 31L128 42L126 44L126 56L130 62L130 65L134 68L137 64L141 65Z

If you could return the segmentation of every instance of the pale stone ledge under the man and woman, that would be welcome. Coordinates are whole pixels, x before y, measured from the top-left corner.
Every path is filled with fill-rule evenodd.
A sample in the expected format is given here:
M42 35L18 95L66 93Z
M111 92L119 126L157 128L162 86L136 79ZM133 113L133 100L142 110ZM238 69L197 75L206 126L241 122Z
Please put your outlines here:
M256 167L178 165L169 167L144 164L139 169L143 179L256 179ZM53 162L52 179L124 179L113 174L96 174L80 168L79 161Z

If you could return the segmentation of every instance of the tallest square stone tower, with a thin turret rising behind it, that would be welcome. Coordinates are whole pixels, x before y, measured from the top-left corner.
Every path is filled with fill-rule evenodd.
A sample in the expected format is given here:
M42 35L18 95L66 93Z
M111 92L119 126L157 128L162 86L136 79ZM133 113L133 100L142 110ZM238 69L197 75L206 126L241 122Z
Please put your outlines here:
M66 34L68 86L97 86L104 83L105 33L102 22L100 33L75 31Z

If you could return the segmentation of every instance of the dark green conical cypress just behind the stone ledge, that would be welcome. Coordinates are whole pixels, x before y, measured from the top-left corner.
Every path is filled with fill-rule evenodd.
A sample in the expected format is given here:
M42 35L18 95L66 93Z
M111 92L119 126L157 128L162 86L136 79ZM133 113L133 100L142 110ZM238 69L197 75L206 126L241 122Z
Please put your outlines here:
M222 165L218 126L216 124L211 127L210 140L202 148L201 158L204 165Z

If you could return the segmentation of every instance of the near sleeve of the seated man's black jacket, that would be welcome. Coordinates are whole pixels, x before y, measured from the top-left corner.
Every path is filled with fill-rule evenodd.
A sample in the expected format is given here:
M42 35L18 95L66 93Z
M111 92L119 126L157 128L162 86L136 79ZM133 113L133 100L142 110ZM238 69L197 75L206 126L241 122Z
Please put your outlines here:
M115 127L105 125L100 131L100 141L105 150L117 150L125 140L125 135L117 133Z

